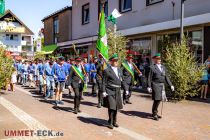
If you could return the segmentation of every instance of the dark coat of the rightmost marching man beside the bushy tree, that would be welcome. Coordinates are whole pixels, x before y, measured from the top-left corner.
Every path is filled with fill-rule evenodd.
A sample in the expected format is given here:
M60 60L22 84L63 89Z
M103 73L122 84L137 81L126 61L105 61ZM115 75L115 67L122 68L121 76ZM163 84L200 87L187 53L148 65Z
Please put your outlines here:
M161 83L167 83L172 86L172 83L168 77L166 68L162 65L162 72L156 64L150 66L150 72L148 76L148 87L152 88L152 99L162 100L162 85Z

